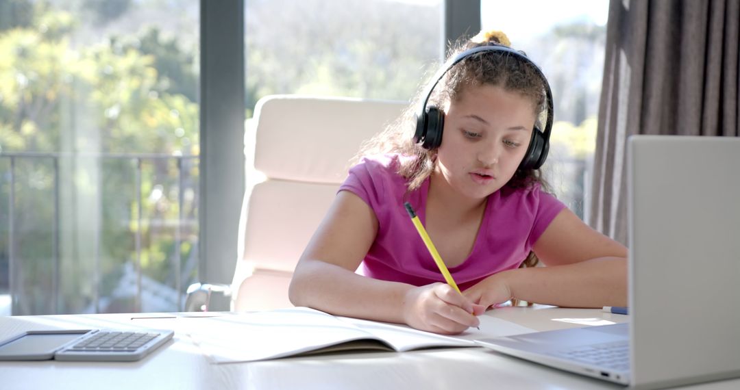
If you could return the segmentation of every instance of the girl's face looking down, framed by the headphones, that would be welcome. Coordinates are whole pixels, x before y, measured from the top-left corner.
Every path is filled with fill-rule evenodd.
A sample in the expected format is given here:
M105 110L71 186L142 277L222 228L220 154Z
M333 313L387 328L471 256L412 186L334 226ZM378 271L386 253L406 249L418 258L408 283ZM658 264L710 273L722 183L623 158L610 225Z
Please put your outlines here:
M499 86L469 86L445 114L434 177L471 199L498 191L527 151L533 107L528 98Z

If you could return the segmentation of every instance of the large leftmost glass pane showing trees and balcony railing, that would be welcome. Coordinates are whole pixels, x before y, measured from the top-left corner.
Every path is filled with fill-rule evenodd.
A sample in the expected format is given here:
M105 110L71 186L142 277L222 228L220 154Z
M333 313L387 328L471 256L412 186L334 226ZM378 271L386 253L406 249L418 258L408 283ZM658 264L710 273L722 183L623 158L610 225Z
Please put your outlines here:
M199 19L192 0L0 0L14 315L181 309L198 270Z

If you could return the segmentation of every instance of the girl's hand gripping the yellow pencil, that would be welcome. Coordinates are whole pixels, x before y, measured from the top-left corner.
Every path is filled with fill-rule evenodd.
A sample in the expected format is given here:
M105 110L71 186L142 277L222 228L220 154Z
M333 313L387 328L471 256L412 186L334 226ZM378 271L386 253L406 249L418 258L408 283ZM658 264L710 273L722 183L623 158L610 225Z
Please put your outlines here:
M475 315L484 311L484 307L473 304L443 283L414 287L406 292L403 300L403 319L408 326L446 335L479 326Z

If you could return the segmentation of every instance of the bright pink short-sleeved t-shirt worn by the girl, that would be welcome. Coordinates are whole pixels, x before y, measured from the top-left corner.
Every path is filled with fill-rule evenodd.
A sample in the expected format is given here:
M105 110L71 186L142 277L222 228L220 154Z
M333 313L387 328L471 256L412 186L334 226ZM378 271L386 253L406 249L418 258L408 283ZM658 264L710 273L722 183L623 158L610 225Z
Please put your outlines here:
M414 206L425 225L427 179L415 191L406 191L406 179L397 174L398 156L364 158L349 170L339 191L360 196L378 221L359 273L371 278L423 286L444 278L406 213L404 202ZM532 246L565 205L539 185L501 188L488 196L483 220L468 259L449 269L461 290L487 276L519 267Z

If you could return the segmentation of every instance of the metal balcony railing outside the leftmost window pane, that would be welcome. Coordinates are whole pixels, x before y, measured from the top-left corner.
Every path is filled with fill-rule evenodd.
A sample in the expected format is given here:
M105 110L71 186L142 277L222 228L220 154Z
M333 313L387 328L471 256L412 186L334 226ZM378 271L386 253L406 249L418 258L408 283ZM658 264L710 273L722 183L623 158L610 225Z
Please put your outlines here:
M128 193L132 194L132 199L130 199L128 204L124 206L124 208L126 206L130 208L129 220L124 219L123 221L119 221L119 225L121 225L120 222L123 222L123 224L125 224L124 230L127 230L132 235L133 249L129 250L129 252L132 252L130 254L130 261L129 259L124 259L124 264L119 264L122 265L122 267L118 267L116 269L116 272L121 274L120 277L118 277L118 287L121 287L122 284L127 285L128 287L123 287L124 290L126 288L129 288L129 290L133 291L124 292L123 294L126 295L127 293L131 293L133 297L132 302L129 302L128 307L123 307L121 309L124 309L126 311L133 310L137 312L140 312L142 310L173 311L181 309L183 307L184 301L184 285L189 284L192 281L184 280L184 278L188 278L187 276L189 275L194 275L194 273L197 273L198 270L198 235L190 234L187 239L184 239L183 237L184 229L188 230L189 232L197 232L198 230L198 174L192 174L190 172L191 170L197 171L199 161L198 159L198 156L173 156L165 154L72 154L42 152L0 153L0 174L3 178L2 180L0 180L0 199L3 196L7 196L7 211L5 212L5 217L7 217L7 219L4 223L7 228L7 242L3 242L4 240L0 238L0 275L5 273L7 275L7 281L3 281L0 278L0 293L2 292L2 290L6 289L6 291L10 293L13 314L27 315L46 314L47 312L61 313L70 311L69 308L60 309L60 306L64 306L64 302L61 302L61 300L65 299L65 297L62 297L60 295L60 285L62 281L62 259L60 253L60 236L62 233L62 227L60 225L60 213L63 208L70 207L70 205L61 204L60 199L62 191L67 191L67 193L72 191L73 193L76 193L77 191L75 191L75 189L70 190L70 188L65 188L65 185L69 183L75 183L76 180L72 179L72 177L78 175L80 171L84 171L85 169L92 169L92 171L96 171L96 173L92 176L94 177L95 175L97 175L97 177L99 177L100 179L95 185L92 185L92 191L90 191L90 188L87 188L88 194L84 196L84 198L90 199L90 197L92 196L92 199L97 199L98 205L102 205L102 196L104 196L102 194L104 190L103 177L106 176L104 166L107 164L107 162L125 163L127 161L129 161L133 165L133 188L128 188L127 191L124 192L130 191ZM49 278L46 279L46 281L48 281L50 285L44 285L44 278L40 277L41 272L33 274L33 267L31 267L31 275L28 275L27 273L21 273L24 265L26 265L24 264L24 261L28 261L29 259L23 259L23 256L21 256L21 251L24 248L19 247L19 236L23 232L19 232L18 226L18 205L19 201L22 200L22 196L19 196L18 187L19 182L33 181L32 179L30 179L30 176L34 176L32 174L29 174L29 177L19 177L19 164L21 163L40 165L44 167L42 168L42 170L45 171L44 174L48 172L50 177L50 181L46 180L46 189L51 193L50 199L48 199L51 206L51 215L49 225L47 225L47 228L50 229L50 233L46 235L50 236L50 243L45 243L47 246L50 246L50 264L41 267L44 273L50 271L50 280L48 280ZM159 182L169 181L172 183L170 187L172 187L172 189L175 190L177 193L176 216L173 217L170 215L166 217L151 219L144 218L144 193L149 192L149 194L151 195L157 192L161 195L161 193L163 192L161 190L163 186L152 185L152 183L155 182L155 178L152 177L146 177L147 190L144 190L143 183L145 179L145 173L143 167L147 163L149 163L151 167L158 167L150 167L149 171L153 171L153 177L160 177L158 178ZM174 173L169 172L171 171L170 167L172 163L174 163L175 167ZM65 165L64 169L61 169L61 166L64 164L67 165ZM65 179L61 178L62 171L66 172L67 177L65 177ZM36 177L36 181L40 180L43 182L45 177L44 174L36 174L36 176L38 176ZM41 177L41 179L39 179L39 177ZM164 179L161 177L164 177ZM72 185L75 186L78 184ZM152 191L151 188L159 189L158 191ZM170 193L175 191L170 191ZM189 216L186 216L186 211L184 207L184 205L186 204L186 199L184 198L188 191L190 191L189 194L192 194L192 199L189 199L191 212L189 213ZM30 193L31 192L33 191L30 191ZM112 192L115 193L116 191ZM73 197L74 196L75 195L73 195ZM166 195L164 195L164 197L167 198ZM173 199L166 199L167 202L172 202L172 200ZM149 206L151 208L157 208L159 204L162 204L162 202L149 202ZM83 205L83 207L85 206ZM34 209L36 210L36 208ZM170 207L169 209L172 210L172 207ZM102 207L100 212L102 213ZM33 213L33 211L31 213ZM5 217L3 216L2 208L0 207L0 223L3 219L5 219ZM74 216L72 219L75 219ZM101 240L103 240L103 234L101 233L101 221L103 220L103 217L98 214L98 216L96 216L94 219L95 223L92 223L92 225L94 226L92 229L90 229L92 230L91 233L93 248L92 286L87 289L92 290L92 297L88 299L88 301L90 301L89 304L84 305L84 307L72 309L75 312L115 311L115 308L111 308L108 307L108 305L102 304L104 300L110 301L110 297L101 296L100 293L102 287L101 283L103 283L104 280L108 280L110 282L110 276L103 275L104 271L101 269ZM75 228L79 228L78 222L76 221L72 222L71 225L75 226ZM172 250L170 253L167 253L170 261L166 261L166 263L168 264L166 271L168 278L169 276L174 276L174 280L169 280L169 283L164 283L161 280L156 280L156 278L147 277L142 272L142 256L144 253L142 234L144 234L145 226L148 228L154 228L156 230L168 231L165 241L172 242ZM0 231L1 230L4 229L0 227ZM163 236L165 235L163 234ZM183 264L182 261L182 256L184 253L181 253L184 241L189 242L189 253L186 253L187 259L185 264ZM72 244L72 246L74 246L74 244ZM73 249L71 251L71 253L78 252L79 250L77 249ZM3 257L5 257L6 259L2 259ZM3 260L7 261L5 263L7 270L2 269L4 265ZM118 261L120 260L121 259L118 259ZM37 261L37 263L38 262L40 261ZM49 270L48 267L51 267L51 269ZM38 267L36 267L36 269L38 269ZM51 304L47 304L45 307L38 308L35 307L33 304L24 302L24 295L27 295L24 294L24 291L29 290L27 288L28 286L24 286L23 284L29 283L38 286L43 285L43 288L47 291L49 295L47 298L49 299ZM134 286L135 288L132 289L132 286ZM80 290L85 289L81 288ZM119 293L121 292L119 291ZM152 307L152 299L147 299L147 305L149 305L149 307L144 307L143 296L147 293L152 293L152 295L159 296L160 298L166 297L164 298L164 302L167 302L168 304L159 304L158 307ZM69 295L69 292L67 292L67 295Z

